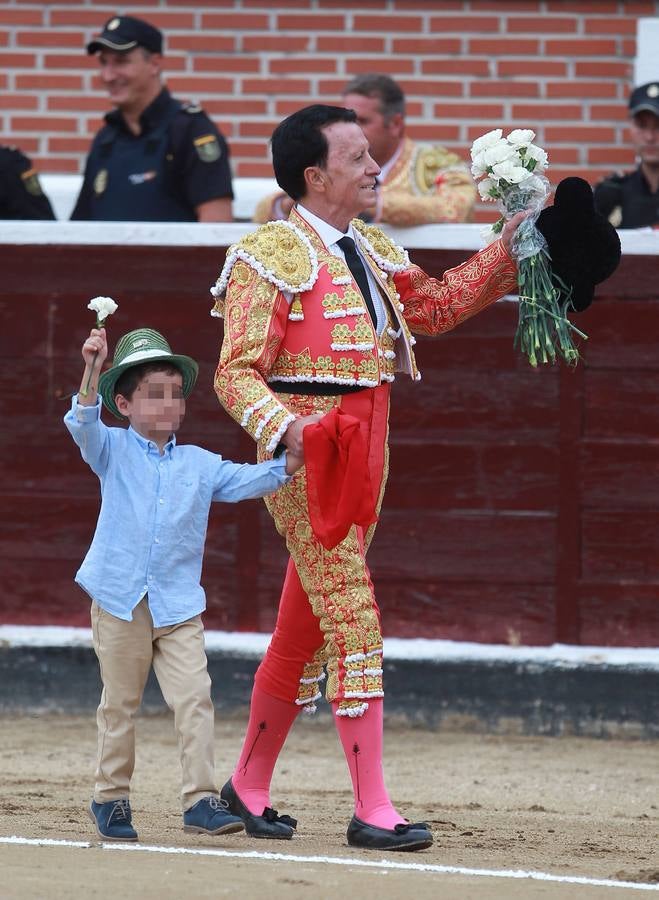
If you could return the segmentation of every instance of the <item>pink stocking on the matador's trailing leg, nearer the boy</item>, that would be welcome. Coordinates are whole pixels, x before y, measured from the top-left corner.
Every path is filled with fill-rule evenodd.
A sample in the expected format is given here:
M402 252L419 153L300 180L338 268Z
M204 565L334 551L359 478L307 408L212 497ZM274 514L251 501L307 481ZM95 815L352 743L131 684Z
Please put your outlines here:
M254 685L247 734L231 781L255 816L270 806L272 773L299 711L295 703L271 697Z

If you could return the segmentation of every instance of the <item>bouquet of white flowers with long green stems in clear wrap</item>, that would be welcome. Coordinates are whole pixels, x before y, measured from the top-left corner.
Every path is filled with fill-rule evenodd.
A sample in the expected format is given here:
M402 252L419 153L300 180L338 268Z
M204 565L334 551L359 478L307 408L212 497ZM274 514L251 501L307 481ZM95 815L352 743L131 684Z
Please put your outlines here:
M576 333L585 339L586 335L567 318L570 289L552 272L547 242L535 226L550 185L542 174L547 168L547 154L533 143L534 138L533 131L520 128L504 138L497 128L474 141L471 171L478 180L478 192L483 200L495 201L501 212L483 236L488 242L494 240L507 219L528 210L513 241L519 270L515 346L519 345L532 366L553 363L558 354L576 365L579 352L572 336Z

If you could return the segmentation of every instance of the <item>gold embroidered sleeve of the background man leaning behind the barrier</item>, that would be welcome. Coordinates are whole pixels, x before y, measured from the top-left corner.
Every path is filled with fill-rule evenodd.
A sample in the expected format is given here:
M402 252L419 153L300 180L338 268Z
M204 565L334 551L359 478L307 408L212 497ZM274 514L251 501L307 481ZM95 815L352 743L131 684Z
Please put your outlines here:
M441 177L441 183L427 194L414 194L394 186L387 189L385 185L380 221L399 228L469 221L476 200L471 176L466 170L449 170Z

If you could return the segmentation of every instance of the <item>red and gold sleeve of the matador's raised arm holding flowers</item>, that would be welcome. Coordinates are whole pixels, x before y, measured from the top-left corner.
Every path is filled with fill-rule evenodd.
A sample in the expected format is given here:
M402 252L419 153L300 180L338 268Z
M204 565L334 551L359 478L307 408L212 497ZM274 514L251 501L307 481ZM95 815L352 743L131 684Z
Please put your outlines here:
M450 331L486 306L517 291L517 267L502 241L448 269L439 280L412 266L394 276L410 331L435 335Z

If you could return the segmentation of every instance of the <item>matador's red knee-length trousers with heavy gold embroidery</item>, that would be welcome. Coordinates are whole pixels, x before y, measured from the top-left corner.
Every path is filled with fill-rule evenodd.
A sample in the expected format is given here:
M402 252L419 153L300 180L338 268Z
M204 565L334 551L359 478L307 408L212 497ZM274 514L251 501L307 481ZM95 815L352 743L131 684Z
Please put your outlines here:
M389 394L385 384L339 397L281 395L300 416L339 404L359 420L378 512L388 472ZM265 503L290 559L275 630L255 682L265 693L313 712L326 667L327 700L337 702L338 715L360 716L369 697L383 696L380 611L366 565L375 525L366 532L353 526L326 550L309 522L304 468Z

